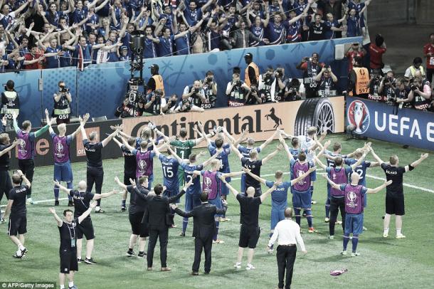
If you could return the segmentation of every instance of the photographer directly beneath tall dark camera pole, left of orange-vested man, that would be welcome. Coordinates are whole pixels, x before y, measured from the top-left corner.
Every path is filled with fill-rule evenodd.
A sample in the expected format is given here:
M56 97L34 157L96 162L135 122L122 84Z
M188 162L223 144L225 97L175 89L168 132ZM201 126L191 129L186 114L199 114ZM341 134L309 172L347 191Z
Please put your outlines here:
M139 82L139 78L129 80L129 89L125 93L122 105L116 109L116 117L138 117L142 115L146 100L143 93L139 93Z

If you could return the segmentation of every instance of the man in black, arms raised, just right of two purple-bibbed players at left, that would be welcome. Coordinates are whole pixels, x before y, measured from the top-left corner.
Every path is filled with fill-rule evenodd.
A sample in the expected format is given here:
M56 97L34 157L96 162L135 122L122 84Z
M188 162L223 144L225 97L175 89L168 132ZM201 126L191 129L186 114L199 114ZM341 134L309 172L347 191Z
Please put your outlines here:
M85 119L89 118L89 114L85 115ZM90 132L89 139L86 135L85 121L80 117L81 136L83 137L83 146L86 152L86 161L88 163L86 170L86 183L88 184L88 191L92 191L93 184L95 183L95 194L101 194L102 180L104 179L104 170L102 169L102 148L105 147L110 140L117 135L119 128L112 132L111 135L106 137L102 142L97 142L97 132ZM101 199L97 200L98 204L95 213L104 213L100 208Z

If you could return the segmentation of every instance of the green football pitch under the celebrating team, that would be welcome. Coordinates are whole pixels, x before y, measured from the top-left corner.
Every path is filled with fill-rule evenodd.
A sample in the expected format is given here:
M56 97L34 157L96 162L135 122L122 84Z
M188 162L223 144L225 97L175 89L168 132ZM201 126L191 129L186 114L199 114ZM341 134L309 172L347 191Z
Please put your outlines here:
M362 147L364 142L358 140L345 141L342 135L327 136L326 140L342 142L342 152L352 152ZM391 154L398 154L400 165L407 165L420 157L420 149L403 149L397 144L372 140L375 152L388 161ZM265 157L275 149L277 142L272 142L260 157ZM208 156L208 154L207 154ZM51 156L47 156L51 157ZM366 157L373 161L371 154ZM202 157L199 162L205 160ZM240 161L231 154L231 171L240 171ZM102 191L119 189L114 177L122 179L122 157L105 159L104 184ZM84 162L73 164L74 185L85 179ZM359 238L358 251L361 256L341 256L342 228L337 225L334 240L329 240L329 226L324 223L324 202L327 197L326 182L317 175L314 185L312 205L314 227L317 233L307 233L307 221L302 219L302 237L307 248L307 255L298 251L295 261L292 288L434 288L434 155L431 154L419 167L404 174L406 198L406 216L403 218L403 234L406 239L395 238L394 217L391 221L388 238L383 238L384 199L386 191L369 194L368 207L364 213L364 224L367 231ZM289 170L289 162L285 152L280 152L261 169L261 176L274 179L274 172ZM324 171L319 170L318 173ZM367 186L374 188L383 183L384 173L379 168L368 169ZM154 158L154 184L162 182L161 163ZM374 178L373 178L374 177ZM59 272L59 233L53 216L48 208L53 206L53 167L37 167L33 180L33 200L42 201L28 205L26 258L14 259L12 255L16 246L6 235L7 224L0 225L0 281L14 282L56 282ZM288 175L285 175L288 179ZM235 189L240 188L240 180L232 182ZM264 188L263 188L263 191ZM63 194L63 195L62 195ZM66 194L60 192L61 197ZM288 197L291 205L291 196ZM127 199L127 204L129 196ZM92 213L95 227L95 249L93 258L97 265L79 264L75 274L78 288L277 288L277 263L275 253L266 251L270 231L270 197L260 207L261 236L253 258L255 270L245 270L246 256L242 268L236 270L236 253L239 236L239 205L233 195L228 196L228 213L231 221L221 223L219 238L225 243L213 244L213 263L210 275L203 275L202 256L199 276L191 276L191 265L194 258L194 239L191 238L193 220L190 219L186 236L178 236L182 219L175 217L177 228L169 229L169 245L167 264L171 272L159 272L159 244L154 254L154 271L146 270L146 261L142 258L127 258L130 226L128 213L120 211L120 194L102 199L105 214ZM6 198L2 205L6 204ZM56 211L60 216L67 208L68 201L60 201ZM181 198L181 209L184 209L184 197ZM2 207L4 209L4 207ZM340 218L340 217L339 217ZM85 241L83 241L85 245ZM351 242L349 243L351 250ZM137 248L134 250L137 253ZM245 251L245 254L247 251ZM83 258L85 246L83 246ZM330 270L348 269L343 275L334 277Z

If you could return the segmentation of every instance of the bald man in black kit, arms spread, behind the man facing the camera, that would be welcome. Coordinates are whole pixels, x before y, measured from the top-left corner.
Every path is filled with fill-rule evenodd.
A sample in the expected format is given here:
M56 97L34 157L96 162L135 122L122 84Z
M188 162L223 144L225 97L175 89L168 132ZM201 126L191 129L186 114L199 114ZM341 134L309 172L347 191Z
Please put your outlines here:
M80 181L78 183L78 189L68 189L62 186L57 180L53 181L54 186L60 189L60 191L65 191L68 196L74 199L74 218L78 218L85 211L89 209L90 201L97 201L102 198L107 198L114 194L119 193L119 191L110 191L105 194L93 194L87 191L88 186L85 181ZM81 248L83 247L83 235L86 237L86 258L85 263L96 264L92 259L92 251L94 246L95 234L93 231L92 219L90 215L86 217L80 224L77 224L77 261L81 263Z

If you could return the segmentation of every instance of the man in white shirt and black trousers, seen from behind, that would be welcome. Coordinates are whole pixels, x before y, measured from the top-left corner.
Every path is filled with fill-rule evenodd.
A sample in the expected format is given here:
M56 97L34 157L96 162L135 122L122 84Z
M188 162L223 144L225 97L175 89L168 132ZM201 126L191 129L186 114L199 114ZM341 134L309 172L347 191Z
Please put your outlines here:
M303 253L307 253L305 243L300 235L300 226L295 221L292 221L292 209L285 209L285 220L277 223L274 233L272 234L270 241L268 242L268 248L272 248L277 238L277 268L279 272L279 286L283 289L283 278L285 277L286 270L286 282L285 288L291 288L292 270L294 269L295 256L297 255L297 243L302 249Z

